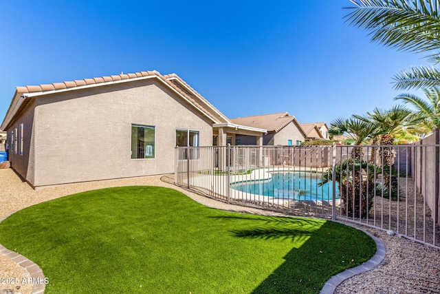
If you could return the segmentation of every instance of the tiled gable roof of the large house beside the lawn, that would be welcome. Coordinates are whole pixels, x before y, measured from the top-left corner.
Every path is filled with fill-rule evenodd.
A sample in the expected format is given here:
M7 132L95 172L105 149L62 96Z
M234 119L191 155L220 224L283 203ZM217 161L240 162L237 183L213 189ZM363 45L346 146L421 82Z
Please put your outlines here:
M129 81L137 81L146 78L157 78L169 87L173 92L177 93L181 98L190 105L198 109L203 115L212 120L212 123L230 123L217 108L206 101L203 96L198 94L187 83L185 83L177 74L168 74L162 76L157 71L135 72L133 74L118 74L113 76L100 76L98 78L85 78L83 80L65 81L62 83L28 85L24 87L16 87L16 92L12 98L12 102L6 113L1 125L1 129L6 129L13 118L19 115L23 109L30 103L32 97L45 94L53 94L56 92L72 91L85 89L87 87L98 87L115 83L125 83Z

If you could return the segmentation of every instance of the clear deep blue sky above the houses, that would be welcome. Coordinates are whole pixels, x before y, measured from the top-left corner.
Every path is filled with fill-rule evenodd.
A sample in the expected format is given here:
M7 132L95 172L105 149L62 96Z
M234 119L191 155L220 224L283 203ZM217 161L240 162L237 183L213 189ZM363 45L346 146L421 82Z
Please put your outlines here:
M349 0L1 1L0 118L16 86L157 70L229 118L300 123L396 105L392 77L423 55L344 23ZM406 91L408 92L408 91Z

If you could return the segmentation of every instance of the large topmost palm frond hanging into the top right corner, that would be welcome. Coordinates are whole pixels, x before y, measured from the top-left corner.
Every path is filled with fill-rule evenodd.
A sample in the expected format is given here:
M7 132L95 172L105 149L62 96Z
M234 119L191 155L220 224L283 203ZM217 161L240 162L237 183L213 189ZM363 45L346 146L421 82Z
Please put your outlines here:
M397 50L440 48L439 0L351 0L350 25L364 28L371 40Z

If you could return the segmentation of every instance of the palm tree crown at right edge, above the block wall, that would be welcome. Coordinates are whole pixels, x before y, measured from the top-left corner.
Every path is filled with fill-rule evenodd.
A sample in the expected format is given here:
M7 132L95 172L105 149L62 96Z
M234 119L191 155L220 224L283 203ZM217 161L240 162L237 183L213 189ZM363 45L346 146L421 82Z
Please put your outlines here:
M440 88L432 87L422 89L422 91L428 98L427 100L413 94L400 94L394 100L401 100L412 105L419 115L421 125L432 131L434 128L440 127Z

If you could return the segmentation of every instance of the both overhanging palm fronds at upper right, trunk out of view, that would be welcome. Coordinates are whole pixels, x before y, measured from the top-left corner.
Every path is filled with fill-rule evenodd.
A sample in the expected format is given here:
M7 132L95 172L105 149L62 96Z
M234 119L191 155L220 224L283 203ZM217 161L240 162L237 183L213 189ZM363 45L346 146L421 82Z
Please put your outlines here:
M440 0L350 0L355 7L347 22L364 28L371 40L397 50L415 53L440 48ZM428 55L439 63L440 53ZM440 85L440 70L432 66L411 67L394 77L395 89Z

